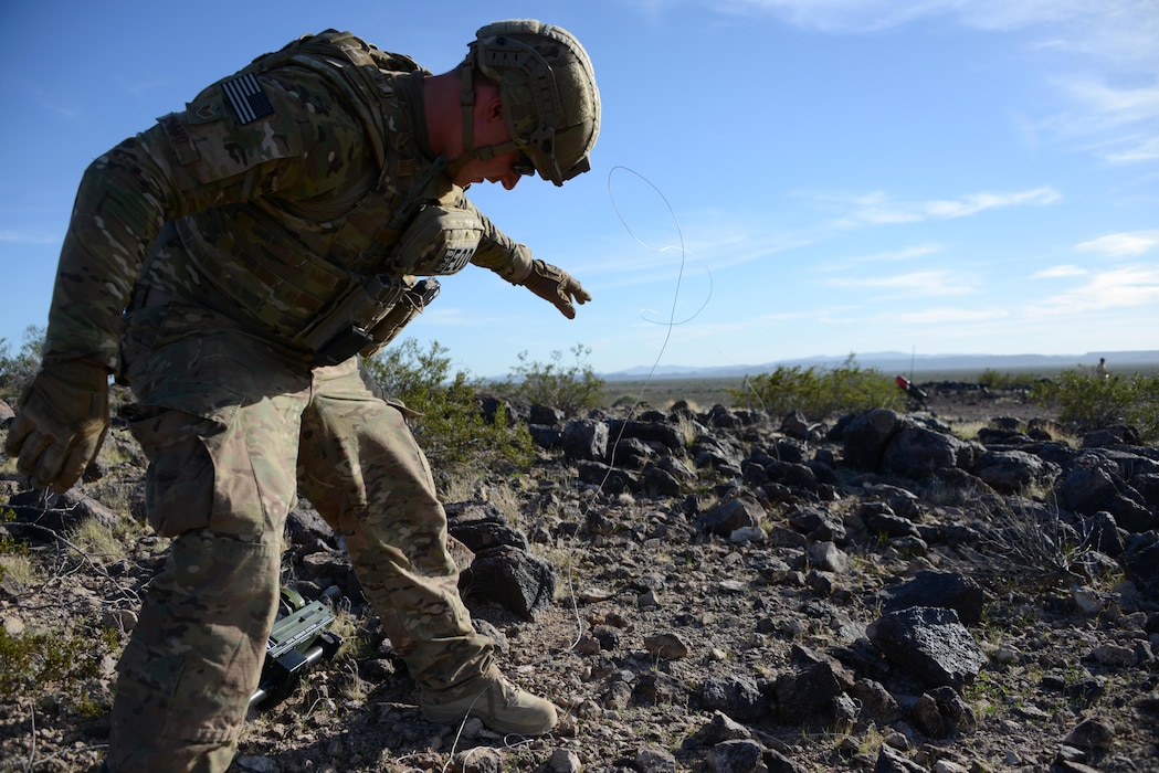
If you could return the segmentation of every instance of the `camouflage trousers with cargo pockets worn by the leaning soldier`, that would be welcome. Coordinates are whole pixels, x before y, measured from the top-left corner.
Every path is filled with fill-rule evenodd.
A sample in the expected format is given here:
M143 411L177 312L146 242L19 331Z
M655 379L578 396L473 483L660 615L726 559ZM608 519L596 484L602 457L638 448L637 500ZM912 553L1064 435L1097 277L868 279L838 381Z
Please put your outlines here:
M228 767L299 493L344 537L424 693L453 697L488 673L491 642L459 597L427 459L357 359L309 371L219 315L163 300L132 313L123 353L148 518L172 553L118 665L109 768Z

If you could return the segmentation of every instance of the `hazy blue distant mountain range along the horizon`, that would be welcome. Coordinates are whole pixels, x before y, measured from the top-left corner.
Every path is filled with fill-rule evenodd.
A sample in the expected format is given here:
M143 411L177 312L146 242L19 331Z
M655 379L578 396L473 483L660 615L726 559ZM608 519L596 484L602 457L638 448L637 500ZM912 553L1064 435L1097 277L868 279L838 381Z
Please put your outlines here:
M629 380L647 378L729 378L755 375L775 370L778 366L832 367L845 362L848 355L829 357L825 355L802 359L779 359L758 365L723 365L719 367L698 367L693 365L657 365L655 371L649 365L639 365L614 373L600 373L606 380ZM861 367L873 367L885 373L921 373L943 371L1057 371L1076 365L1093 366L1100 357L1107 358L1107 366L1113 371L1124 371L1138 367L1159 367L1159 350L1157 351L1102 351L1085 355L907 355L901 351L881 351L868 355L858 353L857 363Z

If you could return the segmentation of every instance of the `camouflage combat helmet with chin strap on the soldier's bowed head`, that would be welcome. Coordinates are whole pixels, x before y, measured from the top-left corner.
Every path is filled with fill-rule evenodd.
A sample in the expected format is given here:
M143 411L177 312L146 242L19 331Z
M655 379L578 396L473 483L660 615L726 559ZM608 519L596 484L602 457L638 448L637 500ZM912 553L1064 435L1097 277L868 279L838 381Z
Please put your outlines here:
M498 86L512 143L525 156L520 170L531 174L533 167L556 185L588 172L599 134L599 92L580 41L559 27L522 19L487 24L468 48L460 65L465 96L476 70ZM464 104L471 147L466 110Z

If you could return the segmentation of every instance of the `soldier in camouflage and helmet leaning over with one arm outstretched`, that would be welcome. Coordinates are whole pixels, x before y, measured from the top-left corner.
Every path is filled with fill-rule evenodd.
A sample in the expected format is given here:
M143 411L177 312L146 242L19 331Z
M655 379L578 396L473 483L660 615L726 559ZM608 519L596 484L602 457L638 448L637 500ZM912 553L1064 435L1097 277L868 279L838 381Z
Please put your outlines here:
M537 172L562 185L589 169L598 129L591 63L557 27L483 27L440 75L328 30L87 169L7 446L35 487L67 490L103 440L109 375L132 387L148 519L172 554L118 665L108 770L228 767L299 493L345 538L429 720L554 727L475 633L406 409L358 353L422 309L420 277L468 262L574 318L588 292L464 189Z

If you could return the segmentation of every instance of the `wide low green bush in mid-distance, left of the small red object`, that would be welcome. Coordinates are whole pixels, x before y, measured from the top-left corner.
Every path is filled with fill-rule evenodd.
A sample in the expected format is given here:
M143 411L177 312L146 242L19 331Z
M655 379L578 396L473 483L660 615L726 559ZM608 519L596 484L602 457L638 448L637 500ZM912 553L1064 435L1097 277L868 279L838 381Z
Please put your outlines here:
M863 369L853 355L833 369L778 365L771 373L745 378L729 389L737 404L759 407L773 416L800 410L814 422L873 408L901 409L904 395L894 380L876 369Z

